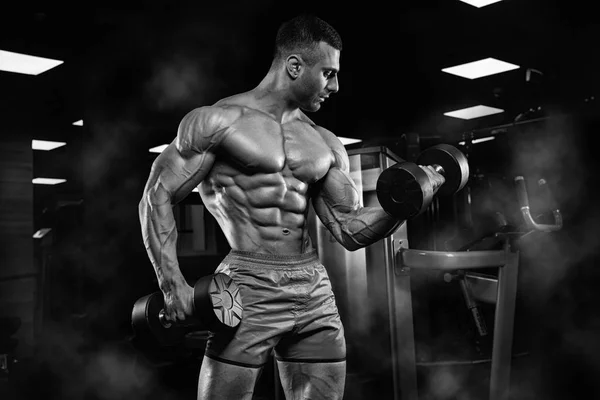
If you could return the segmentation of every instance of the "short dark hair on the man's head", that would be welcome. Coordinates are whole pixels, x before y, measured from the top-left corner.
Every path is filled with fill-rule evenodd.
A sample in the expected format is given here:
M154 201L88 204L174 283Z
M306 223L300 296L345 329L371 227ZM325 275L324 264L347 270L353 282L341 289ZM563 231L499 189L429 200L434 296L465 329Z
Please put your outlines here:
M273 59L283 60L288 55L299 52L309 65L314 65L317 62L319 42L342 50L342 38L331 25L311 14L299 15L279 27Z

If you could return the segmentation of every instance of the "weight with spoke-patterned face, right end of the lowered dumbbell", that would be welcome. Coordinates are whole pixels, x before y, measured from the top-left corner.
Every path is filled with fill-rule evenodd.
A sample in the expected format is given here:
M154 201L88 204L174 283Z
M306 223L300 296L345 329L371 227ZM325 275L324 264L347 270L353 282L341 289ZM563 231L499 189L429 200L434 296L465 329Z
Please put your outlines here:
M194 285L194 315L209 329L237 327L242 311L240 290L228 275L204 276Z

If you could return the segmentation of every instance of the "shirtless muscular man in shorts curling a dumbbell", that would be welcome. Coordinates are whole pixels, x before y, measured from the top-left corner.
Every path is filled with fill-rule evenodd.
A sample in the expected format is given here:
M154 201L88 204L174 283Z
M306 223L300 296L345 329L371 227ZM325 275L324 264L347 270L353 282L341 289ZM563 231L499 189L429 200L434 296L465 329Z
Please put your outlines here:
M343 396L344 331L308 234L309 202L348 250L392 234L403 221L359 205L344 146L304 113L339 90L341 49L338 33L321 19L282 24L260 84L189 112L154 162L139 216L168 319L192 315L172 207L195 187L231 246L216 272L236 282L244 306L235 332L208 340L199 399L251 399L273 349L287 399ZM423 169L437 190L443 177Z

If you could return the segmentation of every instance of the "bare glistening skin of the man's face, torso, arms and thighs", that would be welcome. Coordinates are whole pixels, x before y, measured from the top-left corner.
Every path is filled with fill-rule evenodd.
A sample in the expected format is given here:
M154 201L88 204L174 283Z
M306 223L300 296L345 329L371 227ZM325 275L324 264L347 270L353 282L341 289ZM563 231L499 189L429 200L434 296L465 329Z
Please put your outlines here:
M348 250L390 235L403 222L361 207L344 146L303 111L339 89L339 50L319 42L314 63L290 54L253 90L189 112L156 158L139 204L142 236L170 321L192 316L193 288L179 269L172 207L198 187L234 250L295 255L313 249L315 213ZM423 167L434 186L443 177ZM345 361L277 362L288 399L340 399ZM259 370L205 357L198 398L251 399Z

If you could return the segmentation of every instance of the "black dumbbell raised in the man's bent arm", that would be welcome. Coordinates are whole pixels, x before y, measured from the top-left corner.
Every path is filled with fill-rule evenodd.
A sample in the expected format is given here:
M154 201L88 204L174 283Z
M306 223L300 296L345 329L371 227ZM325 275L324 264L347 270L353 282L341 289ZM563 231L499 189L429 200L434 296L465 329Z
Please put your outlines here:
M469 179L467 157L456 147L439 144L423 151L416 163L400 162L385 169L377 179L381 207L399 219L413 218L427 209L433 185L419 165L430 165L444 176L437 194L447 196L462 189Z

